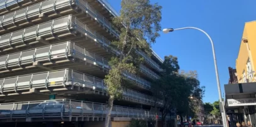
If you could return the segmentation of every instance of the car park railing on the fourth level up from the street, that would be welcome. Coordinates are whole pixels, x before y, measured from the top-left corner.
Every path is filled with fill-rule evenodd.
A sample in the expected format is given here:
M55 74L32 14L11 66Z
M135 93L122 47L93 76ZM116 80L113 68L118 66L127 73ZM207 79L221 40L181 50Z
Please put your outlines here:
M74 30L71 31L72 29ZM78 32L86 34L87 36L89 36L89 38L103 45L107 45L107 46L110 45L110 41L108 41L107 39L104 39L103 36L99 36L99 34L97 34L95 31L93 32L90 28L88 28L86 25L83 25L74 16L66 16L64 18L55 19L47 23L38 24L37 26L24 29L23 31L16 31L14 33L0 36L0 49L5 49L5 48L14 49L16 46L19 46L19 45L27 46L28 45L26 44L27 41L28 42L31 40L36 41L36 38L38 36L42 36L42 37L53 36L55 38L58 38L58 33L74 33L75 34ZM102 39L99 37L101 37ZM136 79L140 79L140 78L136 78ZM146 84L147 81L142 81L140 83ZM146 88L148 88L148 85L146 86Z

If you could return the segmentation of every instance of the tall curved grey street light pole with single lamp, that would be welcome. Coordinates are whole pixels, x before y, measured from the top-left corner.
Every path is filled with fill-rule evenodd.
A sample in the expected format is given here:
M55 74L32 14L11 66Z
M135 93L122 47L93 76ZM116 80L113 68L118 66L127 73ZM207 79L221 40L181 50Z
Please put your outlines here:
M194 27L177 28L177 29L169 28L169 29L163 29L163 32L164 33L169 33L169 32L172 32L172 31L177 31L177 30L182 30L182 29L196 29L198 31L201 31L202 33L204 33L208 37L209 41L211 41L211 48L213 49L213 60L214 60L216 80L217 80L218 93L219 93L219 99L220 99L220 110L221 110L221 116L222 116L222 121L223 121L223 127L227 127L226 111L225 111L224 103L223 103L223 100L222 100L222 97L221 97L220 79L219 79L219 74L218 74L218 66L217 66L217 62L216 62L213 40L211 39L211 37L209 36L208 33L203 31L202 29L194 28Z

